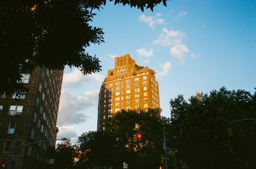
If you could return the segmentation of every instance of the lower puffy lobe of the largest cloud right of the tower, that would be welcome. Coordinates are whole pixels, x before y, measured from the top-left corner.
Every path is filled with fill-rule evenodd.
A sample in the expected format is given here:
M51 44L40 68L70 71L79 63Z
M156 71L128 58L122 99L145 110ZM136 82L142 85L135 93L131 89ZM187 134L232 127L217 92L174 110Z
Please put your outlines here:
M172 48L170 48L170 53L180 63L184 62L183 57L185 56L186 52L188 52L188 49L187 49L187 47L184 44L176 44Z

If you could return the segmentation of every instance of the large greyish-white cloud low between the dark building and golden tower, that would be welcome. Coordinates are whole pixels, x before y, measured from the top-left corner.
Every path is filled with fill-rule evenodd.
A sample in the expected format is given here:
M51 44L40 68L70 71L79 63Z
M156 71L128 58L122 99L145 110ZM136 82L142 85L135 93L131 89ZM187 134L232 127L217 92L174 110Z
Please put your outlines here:
M97 105L99 90L87 91L80 96L71 95L67 91L61 92L58 126L80 124L90 118L86 109Z

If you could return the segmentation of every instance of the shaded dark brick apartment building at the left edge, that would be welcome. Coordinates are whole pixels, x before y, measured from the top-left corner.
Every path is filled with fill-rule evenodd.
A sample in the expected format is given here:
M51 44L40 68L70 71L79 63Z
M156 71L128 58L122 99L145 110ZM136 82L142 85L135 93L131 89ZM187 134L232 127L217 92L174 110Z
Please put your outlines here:
M23 75L29 89L26 95L0 93L0 164L8 166L17 134L15 147L56 139L56 127L62 70L37 67L33 74ZM46 168L49 159L46 149L55 147L55 141L34 143L17 148L11 168Z

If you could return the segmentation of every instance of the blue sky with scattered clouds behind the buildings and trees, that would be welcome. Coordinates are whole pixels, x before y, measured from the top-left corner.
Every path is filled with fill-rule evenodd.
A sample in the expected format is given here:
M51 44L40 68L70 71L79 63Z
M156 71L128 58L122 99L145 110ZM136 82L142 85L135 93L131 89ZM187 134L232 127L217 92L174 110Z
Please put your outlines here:
M144 12L107 2L95 10L94 27L104 43L86 49L102 71L83 76L66 67L60 96L57 138L72 142L97 130L98 94L115 57L130 54L140 66L156 70L162 116L171 99L225 86L254 93L256 87L255 1L169 1Z

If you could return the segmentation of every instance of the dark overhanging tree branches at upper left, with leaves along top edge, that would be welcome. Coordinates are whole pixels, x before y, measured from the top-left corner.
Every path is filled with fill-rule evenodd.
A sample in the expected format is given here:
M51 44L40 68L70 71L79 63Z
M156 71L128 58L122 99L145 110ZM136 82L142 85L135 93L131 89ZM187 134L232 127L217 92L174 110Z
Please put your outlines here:
M166 6L166 0L115 0L115 5L153 11L161 2ZM104 42L102 29L90 26L90 21L96 15L93 10L105 4L106 0L2 1L0 92L28 91L20 74L31 74L37 66L63 69L68 65L83 75L100 71L100 61L86 48Z

